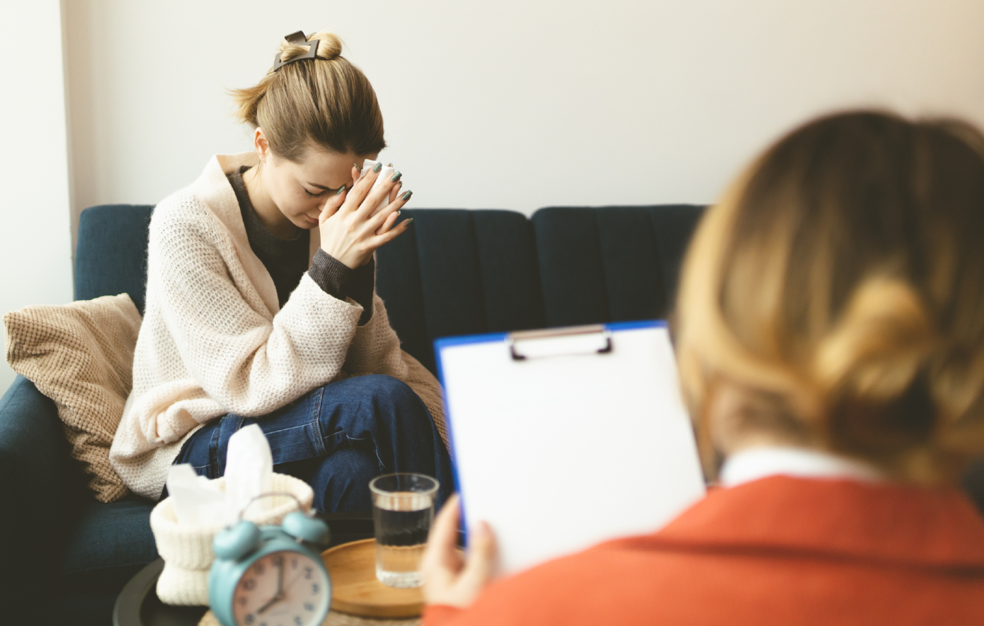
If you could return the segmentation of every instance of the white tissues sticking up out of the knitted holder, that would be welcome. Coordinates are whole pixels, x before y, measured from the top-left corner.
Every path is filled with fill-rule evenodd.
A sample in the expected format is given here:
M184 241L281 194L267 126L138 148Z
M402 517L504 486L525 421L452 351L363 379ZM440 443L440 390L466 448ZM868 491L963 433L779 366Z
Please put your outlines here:
M191 465L173 465L167 472L167 494L174 500L174 517L178 524L216 526L233 524L239 514L250 507L263 511L274 498L252 500L271 491L274 457L270 443L257 425L242 428L229 437L225 457L225 490L204 476L195 474Z

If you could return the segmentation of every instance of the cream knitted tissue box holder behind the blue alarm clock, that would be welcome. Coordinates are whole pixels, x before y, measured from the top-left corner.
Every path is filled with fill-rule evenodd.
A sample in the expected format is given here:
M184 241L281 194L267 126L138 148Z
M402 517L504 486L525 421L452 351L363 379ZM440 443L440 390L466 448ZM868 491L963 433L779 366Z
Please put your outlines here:
M225 479L215 479L215 484L225 489ZM304 512L311 509L314 491L292 476L274 474L272 491L291 493L301 502ZM269 508L262 508L259 501L250 506L243 519L258 526L279 524L287 513L297 510L292 498L278 495L265 498ZM164 559L164 569L157 579L157 598L166 604L208 605L209 568L215 554L212 540L224 525L189 526L177 523L171 498L167 497L151 511L151 530L157 543L157 552Z

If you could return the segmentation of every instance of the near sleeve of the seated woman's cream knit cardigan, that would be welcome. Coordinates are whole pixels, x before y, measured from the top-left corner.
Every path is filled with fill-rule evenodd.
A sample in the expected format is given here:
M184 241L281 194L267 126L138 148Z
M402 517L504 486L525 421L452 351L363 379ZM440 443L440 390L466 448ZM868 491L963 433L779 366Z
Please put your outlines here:
M208 216L152 222L149 289L187 370L222 407L262 416L338 376L361 307L325 293L304 275L271 315L231 246Z

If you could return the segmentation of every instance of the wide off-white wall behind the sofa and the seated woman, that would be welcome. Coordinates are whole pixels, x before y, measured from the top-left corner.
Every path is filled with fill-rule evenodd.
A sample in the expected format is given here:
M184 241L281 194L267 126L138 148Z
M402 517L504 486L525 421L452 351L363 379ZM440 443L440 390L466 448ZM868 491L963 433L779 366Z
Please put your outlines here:
M71 0L79 209L155 202L246 149L224 89L333 29L411 206L707 202L831 107L984 123L980 0Z

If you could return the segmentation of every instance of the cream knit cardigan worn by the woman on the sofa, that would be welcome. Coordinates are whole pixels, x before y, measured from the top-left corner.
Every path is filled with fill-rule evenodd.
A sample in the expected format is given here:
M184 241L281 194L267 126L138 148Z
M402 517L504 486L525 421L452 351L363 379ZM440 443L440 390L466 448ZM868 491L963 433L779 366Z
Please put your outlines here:
M268 415L348 374L383 373L427 405L447 445L441 388L400 350L386 308L334 298L306 273L280 309L246 238L226 174L256 154L216 155L195 183L160 201L151 220L147 306L133 390L109 459L134 492L156 500L182 443L227 413ZM311 256L321 241L311 232Z

